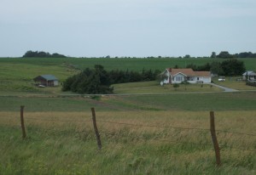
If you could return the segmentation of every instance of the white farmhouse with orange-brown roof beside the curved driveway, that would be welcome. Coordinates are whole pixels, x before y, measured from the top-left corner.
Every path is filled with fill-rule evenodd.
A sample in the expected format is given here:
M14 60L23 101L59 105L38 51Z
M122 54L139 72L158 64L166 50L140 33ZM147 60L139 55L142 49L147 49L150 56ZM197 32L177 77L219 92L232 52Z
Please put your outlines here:
M162 74L165 77L163 83L210 83L212 81L210 71L193 71L192 69L168 68Z

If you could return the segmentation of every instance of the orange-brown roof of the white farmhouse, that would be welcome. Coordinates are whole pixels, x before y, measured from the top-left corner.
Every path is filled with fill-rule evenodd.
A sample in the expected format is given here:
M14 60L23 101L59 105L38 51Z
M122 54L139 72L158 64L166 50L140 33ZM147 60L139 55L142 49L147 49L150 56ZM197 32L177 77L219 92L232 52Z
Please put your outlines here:
M169 68L167 69L167 71L169 71L172 76L176 76L178 73L181 73L185 76L211 76L210 71L193 71L191 68L188 68L188 69Z

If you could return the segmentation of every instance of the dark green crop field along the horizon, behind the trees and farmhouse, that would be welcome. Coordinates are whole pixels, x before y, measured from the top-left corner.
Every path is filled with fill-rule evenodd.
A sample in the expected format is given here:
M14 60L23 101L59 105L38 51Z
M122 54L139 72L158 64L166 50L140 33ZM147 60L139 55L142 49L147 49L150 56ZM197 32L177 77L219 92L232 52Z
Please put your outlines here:
M205 65L212 61L223 61L224 59L81 59L81 58L0 58L0 64L23 64L23 65L39 65L39 66L65 66L75 69L92 68L94 65L103 65L106 70L115 69L142 71L146 70L164 70L169 67L178 65L186 67L189 64ZM242 60L250 71L256 71L256 59L239 59Z

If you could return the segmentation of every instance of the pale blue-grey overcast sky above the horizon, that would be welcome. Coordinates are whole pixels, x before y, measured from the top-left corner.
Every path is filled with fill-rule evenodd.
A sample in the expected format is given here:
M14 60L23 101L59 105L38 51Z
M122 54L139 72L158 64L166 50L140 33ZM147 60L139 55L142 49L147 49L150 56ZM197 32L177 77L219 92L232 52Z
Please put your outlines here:
M0 57L256 53L255 0L0 0Z

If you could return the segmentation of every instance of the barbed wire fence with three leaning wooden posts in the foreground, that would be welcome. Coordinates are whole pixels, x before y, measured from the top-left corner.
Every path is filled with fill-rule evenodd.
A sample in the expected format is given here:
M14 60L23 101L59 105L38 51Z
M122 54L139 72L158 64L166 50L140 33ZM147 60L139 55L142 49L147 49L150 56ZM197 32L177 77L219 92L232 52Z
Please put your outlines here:
M114 126L123 126L123 127L134 127L134 128L142 128L142 127L154 127L154 128L161 128L161 129L173 129L176 131L182 132L182 131L194 131L194 132L200 132L202 137L205 137L206 133L211 133L211 138L212 138L212 144L211 143L207 143L207 142L189 142L189 141L183 141L182 138L177 138L177 139L163 139L163 138L158 138L158 137L153 137L151 139L160 141L160 142L166 142L166 143L173 143L173 144L189 144L189 145L197 145L197 146L207 146L207 147L212 147L214 148L215 151L215 156L216 156L216 164L218 166L221 165L221 159L220 159L220 151L221 150L241 150L241 151L251 151L251 152L256 152L255 149L246 149L246 148L241 148L241 147L237 147L237 146L229 146L227 144L219 144L218 143L218 135L219 134L231 134L231 136L241 136L241 137L250 137L255 139L256 134L253 133L238 133L238 132L231 132L231 131L226 131L226 130L216 130L215 129L215 121L214 121L214 112L210 111L210 128L200 128L200 127L175 127L175 126L159 126L159 125L144 125L144 124L137 124L137 123L129 123L129 122L119 122L119 121L107 121L107 120L96 120L96 111L94 108L91 108L91 118L90 117L86 117L86 119L83 120L60 120L60 119L43 119L43 118L35 118L35 117L25 117L24 116L24 108L25 106L20 106L20 127L21 127L21 134L22 134L22 138L26 138L26 125L25 125L25 121L56 121L56 122L67 122L67 123L92 123L93 129L94 129L94 133L96 135L96 144L97 144L97 148L98 150L102 149L102 140L101 140L101 136L105 136L105 137L112 137L114 134L116 133L108 133L107 131L99 131L97 124L110 124L110 125L114 125ZM6 118L9 119L9 117L4 117L2 116L1 118ZM26 119L26 120L25 120ZM18 127L18 126L15 126ZM68 131L59 131L59 132L68 132ZM82 131L75 131L76 133L84 133L84 130ZM204 132L204 133L202 133ZM101 133L101 134L100 134ZM175 133L173 134L175 135ZM147 140L147 137L137 137L137 140Z

